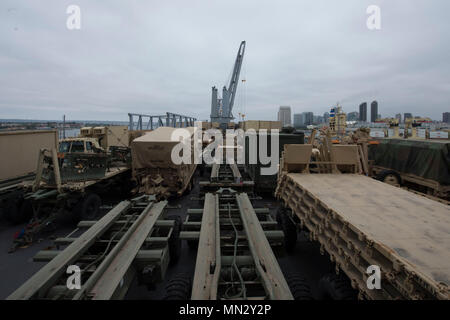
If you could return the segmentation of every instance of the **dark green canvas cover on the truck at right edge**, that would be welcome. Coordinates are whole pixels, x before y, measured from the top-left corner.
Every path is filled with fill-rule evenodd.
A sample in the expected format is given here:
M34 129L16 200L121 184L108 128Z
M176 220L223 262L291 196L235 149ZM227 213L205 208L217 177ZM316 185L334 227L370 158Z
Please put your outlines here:
M375 166L450 185L450 142L380 139L371 145L369 160Z

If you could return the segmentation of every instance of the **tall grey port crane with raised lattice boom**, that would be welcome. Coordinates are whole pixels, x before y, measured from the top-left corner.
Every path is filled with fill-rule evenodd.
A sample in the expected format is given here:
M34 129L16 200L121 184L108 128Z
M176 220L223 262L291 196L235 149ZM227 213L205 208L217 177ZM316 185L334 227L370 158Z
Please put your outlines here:
M218 90L212 87L211 99L211 122L218 122L220 127L226 127L230 120L234 119L233 104L236 97L237 85L239 82L239 74L241 72L242 60L244 59L245 41L241 42L239 50L234 62L233 73L231 75L230 84L222 89L222 98L218 97Z

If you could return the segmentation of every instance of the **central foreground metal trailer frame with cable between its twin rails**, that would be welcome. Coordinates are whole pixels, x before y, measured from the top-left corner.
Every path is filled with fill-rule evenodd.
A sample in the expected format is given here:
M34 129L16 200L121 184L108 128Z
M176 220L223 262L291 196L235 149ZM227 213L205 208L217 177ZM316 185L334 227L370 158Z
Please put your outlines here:
M276 227L246 193L207 193L203 210L188 210L180 233L199 241L191 299L293 299L271 248L284 239Z

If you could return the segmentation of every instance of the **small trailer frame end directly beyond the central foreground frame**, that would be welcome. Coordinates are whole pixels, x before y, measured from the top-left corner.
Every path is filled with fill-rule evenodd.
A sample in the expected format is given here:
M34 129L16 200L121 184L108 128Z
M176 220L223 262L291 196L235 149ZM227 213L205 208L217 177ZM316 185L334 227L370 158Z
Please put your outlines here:
M216 191L220 188L232 188L234 190L251 192L254 182L243 180L237 164L213 164L210 181L200 181L201 191Z

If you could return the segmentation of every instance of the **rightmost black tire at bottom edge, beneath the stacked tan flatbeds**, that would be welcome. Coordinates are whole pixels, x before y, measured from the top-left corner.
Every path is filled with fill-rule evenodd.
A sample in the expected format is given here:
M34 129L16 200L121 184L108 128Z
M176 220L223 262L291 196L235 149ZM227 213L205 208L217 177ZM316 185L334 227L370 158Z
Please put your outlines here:
M319 296L324 300L356 300L357 292L346 276L329 273L319 280Z

